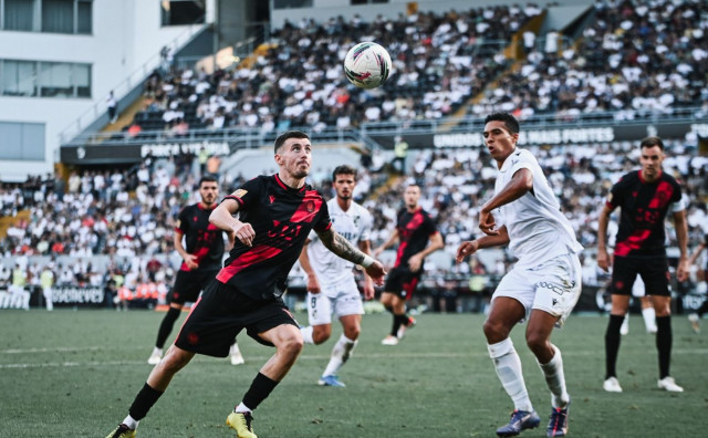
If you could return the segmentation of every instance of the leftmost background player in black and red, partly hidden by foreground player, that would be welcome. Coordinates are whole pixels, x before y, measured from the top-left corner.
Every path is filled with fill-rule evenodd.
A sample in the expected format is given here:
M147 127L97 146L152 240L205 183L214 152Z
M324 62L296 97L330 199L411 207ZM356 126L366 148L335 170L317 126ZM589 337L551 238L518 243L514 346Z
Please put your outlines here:
M175 249L184 261L177 271L175 284L169 294L169 309L163 317L157 331L155 347L147 359L150 365L157 365L163 358L165 342L185 303L196 302L199 293L221 269L225 231L209 222L209 216L217 207L217 197L219 196L219 184L214 176L205 175L201 177L199 196L201 200L185 207L175 223ZM233 241L232 236L229 237L229 241ZM243 356L236 341L231 344L229 355L231 364L243 363Z

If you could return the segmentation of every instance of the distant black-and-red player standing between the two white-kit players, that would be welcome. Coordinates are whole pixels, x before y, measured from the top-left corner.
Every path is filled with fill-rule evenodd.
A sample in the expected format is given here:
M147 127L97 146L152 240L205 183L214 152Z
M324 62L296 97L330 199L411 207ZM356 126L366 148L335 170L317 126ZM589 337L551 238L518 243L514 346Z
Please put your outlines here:
M396 240L399 241L396 263L386 278L381 295L382 304L394 320L391 333L382 341L384 345L398 344L406 327L415 324L415 320L406 314L406 301L410 300L420 281L425 258L444 247L442 236L430 215L418 205L419 199L420 187L408 185L404 192L405 208L398 212L394 232L374 251L374 257L378 257Z

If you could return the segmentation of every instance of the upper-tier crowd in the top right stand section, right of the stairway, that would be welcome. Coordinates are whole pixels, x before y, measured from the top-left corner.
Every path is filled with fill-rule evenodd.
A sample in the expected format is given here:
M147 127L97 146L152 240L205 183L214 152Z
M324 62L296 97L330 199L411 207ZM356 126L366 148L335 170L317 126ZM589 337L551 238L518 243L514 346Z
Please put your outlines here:
M686 107L708 116L707 2L597 0L594 12L576 44L534 45L470 113L574 121L614 112L624 121Z

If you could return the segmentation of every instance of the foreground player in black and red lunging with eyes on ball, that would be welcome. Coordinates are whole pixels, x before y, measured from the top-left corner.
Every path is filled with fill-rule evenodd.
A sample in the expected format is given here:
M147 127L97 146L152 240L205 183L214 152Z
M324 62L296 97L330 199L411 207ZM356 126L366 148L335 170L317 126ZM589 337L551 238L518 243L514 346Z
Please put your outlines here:
M275 347L227 418L238 437L256 437L251 411L285 377L302 351L300 328L282 294L310 230L332 252L361 264L375 283L383 283L386 272L381 262L334 231L322 195L305 184L312 165L308 135L296 131L280 135L274 158L277 175L251 179L211 212L210 222L237 239L230 257L192 307L175 344L153 368L129 415L108 437L134 437L137 423L195 354L225 357L244 328L259 343Z

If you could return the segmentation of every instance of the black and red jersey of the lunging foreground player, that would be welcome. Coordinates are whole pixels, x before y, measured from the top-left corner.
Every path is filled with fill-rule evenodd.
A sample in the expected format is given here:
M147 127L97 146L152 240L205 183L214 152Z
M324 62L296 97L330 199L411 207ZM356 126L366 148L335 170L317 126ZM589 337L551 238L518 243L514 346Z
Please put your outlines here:
M310 185L294 189L273 175L251 179L225 199L239 202L240 220L256 237L252 247L236 239L217 280L253 299L282 295L310 230L332 227L324 198Z

